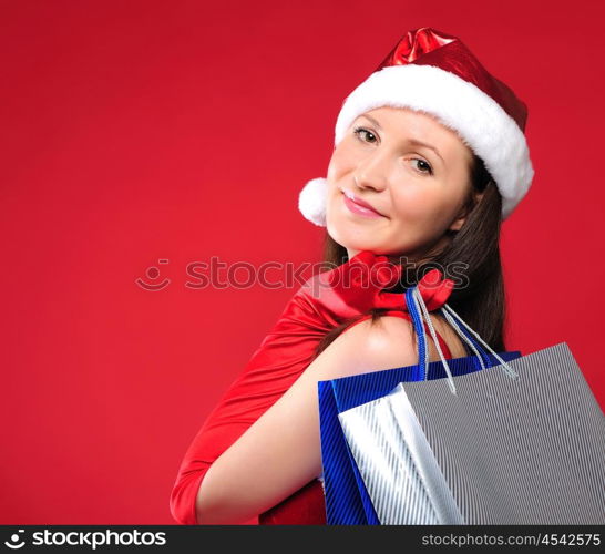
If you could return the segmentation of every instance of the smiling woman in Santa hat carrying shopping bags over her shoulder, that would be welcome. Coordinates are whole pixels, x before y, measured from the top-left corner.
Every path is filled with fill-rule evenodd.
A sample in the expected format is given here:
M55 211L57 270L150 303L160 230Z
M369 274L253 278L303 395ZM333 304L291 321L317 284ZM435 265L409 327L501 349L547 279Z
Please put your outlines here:
M171 495L176 521L325 523L317 381L417 363L401 293L430 268L452 280L422 289L429 309L447 300L504 350L499 233L533 177L525 120L460 40L430 28L346 99L327 178L299 199L337 267L294 295L195 437ZM465 356L431 316L447 357Z

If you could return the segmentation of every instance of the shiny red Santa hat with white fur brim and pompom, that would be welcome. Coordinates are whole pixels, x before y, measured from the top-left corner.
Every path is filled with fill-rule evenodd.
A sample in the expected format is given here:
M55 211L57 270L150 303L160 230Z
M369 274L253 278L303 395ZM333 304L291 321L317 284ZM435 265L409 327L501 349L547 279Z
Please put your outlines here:
M457 37L430 27L409 31L342 102L335 146L356 117L380 106L427 112L457 131L495 181L502 219L527 193L534 175L524 135L527 107ZM315 178L300 192L298 207L325 227L326 199L326 179Z

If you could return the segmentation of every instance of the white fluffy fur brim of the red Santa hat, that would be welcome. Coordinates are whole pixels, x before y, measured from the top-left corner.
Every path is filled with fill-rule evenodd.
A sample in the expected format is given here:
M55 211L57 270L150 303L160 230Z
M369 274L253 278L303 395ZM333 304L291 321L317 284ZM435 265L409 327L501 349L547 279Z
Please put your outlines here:
M534 170L525 135L495 100L469 81L433 65L383 68L345 100L335 145L357 116L380 106L428 112L457 131L494 178L502 195L503 219L527 193ZM310 198L307 202L316 206Z

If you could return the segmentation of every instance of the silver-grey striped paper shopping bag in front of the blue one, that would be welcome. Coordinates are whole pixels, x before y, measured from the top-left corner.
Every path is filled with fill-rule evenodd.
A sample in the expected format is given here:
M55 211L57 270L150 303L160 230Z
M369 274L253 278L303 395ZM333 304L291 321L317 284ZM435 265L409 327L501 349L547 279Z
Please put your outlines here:
M338 418L381 524L605 523L605 417L565 342Z

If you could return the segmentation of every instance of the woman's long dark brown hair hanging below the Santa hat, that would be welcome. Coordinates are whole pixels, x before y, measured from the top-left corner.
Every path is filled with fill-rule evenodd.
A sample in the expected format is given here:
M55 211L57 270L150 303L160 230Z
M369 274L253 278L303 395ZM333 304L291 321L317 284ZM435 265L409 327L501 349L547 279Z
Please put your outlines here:
M496 352L505 350L504 319L505 296L500 258L500 227L502 197L481 157L473 155L471 163L471 187L466 197L468 216L460 230L448 230L447 245L429 253L409 271L404 265L402 279L407 287L416 285L431 268L439 268L444 277L454 281L448 299L457 314ZM475 202L476 193L483 193ZM326 232L324 261L328 267L348 260L347 249ZM458 270L463 268L463 279ZM397 287L396 287L397 288ZM384 309L373 308L372 324ZM324 351L345 329L363 317L363 314L343 321L328 332L316 348L315 357Z

